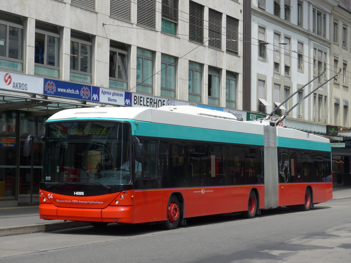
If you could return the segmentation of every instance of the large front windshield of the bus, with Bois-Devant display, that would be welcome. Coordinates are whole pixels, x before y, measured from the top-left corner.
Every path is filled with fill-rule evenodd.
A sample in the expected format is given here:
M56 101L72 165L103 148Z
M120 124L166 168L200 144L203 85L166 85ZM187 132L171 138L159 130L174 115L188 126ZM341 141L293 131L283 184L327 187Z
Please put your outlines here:
M50 122L46 126L43 181L58 184L130 184L131 131L128 123Z

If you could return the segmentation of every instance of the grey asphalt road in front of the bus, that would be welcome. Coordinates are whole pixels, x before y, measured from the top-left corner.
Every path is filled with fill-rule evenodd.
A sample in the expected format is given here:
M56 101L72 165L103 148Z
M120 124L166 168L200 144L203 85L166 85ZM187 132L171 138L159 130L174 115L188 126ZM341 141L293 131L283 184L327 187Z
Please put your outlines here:
M193 218L176 230L111 224L0 237L0 262L350 262L350 199L253 219Z

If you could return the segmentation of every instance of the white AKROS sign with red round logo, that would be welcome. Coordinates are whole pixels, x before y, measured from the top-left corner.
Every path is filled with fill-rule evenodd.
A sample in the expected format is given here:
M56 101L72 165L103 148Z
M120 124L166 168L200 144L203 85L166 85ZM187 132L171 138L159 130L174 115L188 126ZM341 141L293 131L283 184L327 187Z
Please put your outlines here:
M0 71L0 88L15 92L42 94L44 79L29 75Z

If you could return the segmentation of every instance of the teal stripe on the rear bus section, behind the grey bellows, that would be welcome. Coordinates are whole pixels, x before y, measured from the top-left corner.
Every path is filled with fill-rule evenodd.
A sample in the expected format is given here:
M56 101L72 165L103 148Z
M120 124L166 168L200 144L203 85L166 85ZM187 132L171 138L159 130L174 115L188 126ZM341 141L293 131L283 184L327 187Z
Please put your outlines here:
M278 137L278 147L306 149L315 151L331 151L330 143L298 140L292 138Z

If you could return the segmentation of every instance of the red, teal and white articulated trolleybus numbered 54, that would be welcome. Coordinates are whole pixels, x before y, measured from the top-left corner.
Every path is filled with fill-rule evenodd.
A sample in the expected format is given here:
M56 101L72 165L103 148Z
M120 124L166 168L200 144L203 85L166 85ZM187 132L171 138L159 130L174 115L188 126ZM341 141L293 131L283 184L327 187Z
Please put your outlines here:
M30 136L29 136L30 137ZM30 147L33 138L27 138ZM332 198L328 139L192 106L62 110L46 121L40 218L162 223Z

